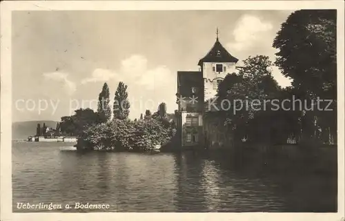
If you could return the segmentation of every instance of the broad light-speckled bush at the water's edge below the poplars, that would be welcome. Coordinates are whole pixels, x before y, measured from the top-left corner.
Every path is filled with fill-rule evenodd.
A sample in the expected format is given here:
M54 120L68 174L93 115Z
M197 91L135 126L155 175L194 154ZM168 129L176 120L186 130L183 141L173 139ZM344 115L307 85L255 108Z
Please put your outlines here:
M114 119L90 126L80 139L95 150L150 151L156 145L166 144L174 135L175 129L158 119Z

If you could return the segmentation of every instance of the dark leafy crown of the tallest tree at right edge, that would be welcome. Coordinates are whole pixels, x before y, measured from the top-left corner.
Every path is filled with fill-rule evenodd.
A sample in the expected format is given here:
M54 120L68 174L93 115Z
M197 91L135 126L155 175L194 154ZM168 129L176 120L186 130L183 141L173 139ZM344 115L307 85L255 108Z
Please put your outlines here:
M336 10L298 10L277 33L275 64L304 93L336 95Z

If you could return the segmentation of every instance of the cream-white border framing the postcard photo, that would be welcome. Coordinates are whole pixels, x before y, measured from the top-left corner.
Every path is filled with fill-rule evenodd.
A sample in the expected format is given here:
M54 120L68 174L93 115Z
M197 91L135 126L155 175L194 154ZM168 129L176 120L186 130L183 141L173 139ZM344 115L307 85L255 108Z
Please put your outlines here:
M12 46L14 10L337 10L337 213L12 213ZM2 1L1 220L344 220L344 1ZM322 200L322 199L319 199Z

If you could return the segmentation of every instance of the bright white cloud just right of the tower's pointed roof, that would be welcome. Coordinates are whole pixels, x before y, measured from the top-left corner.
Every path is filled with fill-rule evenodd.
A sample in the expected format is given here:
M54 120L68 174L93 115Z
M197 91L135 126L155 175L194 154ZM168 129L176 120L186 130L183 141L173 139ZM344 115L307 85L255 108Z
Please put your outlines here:
M270 37L268 39L266 37L271 34L271 30L273 30L272 23L262 21L254 15L243 15L236 23L232 33L234 41L229 43L228 47L233 50L253 48L255 44L269 41Z

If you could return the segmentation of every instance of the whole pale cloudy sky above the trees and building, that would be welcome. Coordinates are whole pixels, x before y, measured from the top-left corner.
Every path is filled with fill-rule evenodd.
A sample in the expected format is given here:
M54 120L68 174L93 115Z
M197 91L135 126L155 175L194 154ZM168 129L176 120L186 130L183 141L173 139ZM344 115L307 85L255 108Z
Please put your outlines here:
M130 118L161 102L177 109L178 70L197 63L219 41L239 59L266 55L292 11L17 11L12 14L12 121L57 120L97 108L106 82L113 100L128 86ZM290 85L277 67L278 84Z

